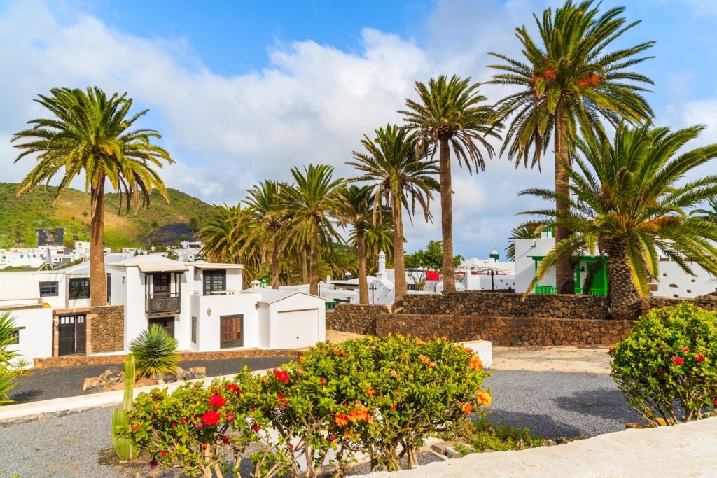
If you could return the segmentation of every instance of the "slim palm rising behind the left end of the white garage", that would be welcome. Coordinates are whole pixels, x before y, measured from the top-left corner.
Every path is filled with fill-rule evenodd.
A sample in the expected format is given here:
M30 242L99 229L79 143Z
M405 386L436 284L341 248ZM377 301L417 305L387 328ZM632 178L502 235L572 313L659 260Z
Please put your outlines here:
M263 257L270 256L272 289L280 285L280 232L288 221L287 216L279 212L282 201L279 191L280 184L276 181L263 181L247 191L249 196L244 199L253 219L253 226L244 237L245 247L255 247Z

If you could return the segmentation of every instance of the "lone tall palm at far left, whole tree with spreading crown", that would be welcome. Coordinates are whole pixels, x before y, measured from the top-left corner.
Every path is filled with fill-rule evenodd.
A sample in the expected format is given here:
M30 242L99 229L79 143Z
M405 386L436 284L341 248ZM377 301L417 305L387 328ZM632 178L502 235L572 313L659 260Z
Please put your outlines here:
M141 204L149 207L153 188L169 202L164 183L156 168L162 161L174 163L169 153L150 143L161 138L155 130L132 129L133 124L148 110L130 116L131 98L127 94L107 97L98 87L87 91L53 88L50 96L39 95L37 101L49 110L53 118L38 118L34 125L12 136L22 153L16 158L37 154L37 166L28 173L18 188L25 194L41 184L47 184L60 169L64 169L57 196L70 187L75 176L85 172L85 191L90 192L90 304L107 304L107 276L105 275L105 182L118 191L120 209L129 211L130 202L137 211Z

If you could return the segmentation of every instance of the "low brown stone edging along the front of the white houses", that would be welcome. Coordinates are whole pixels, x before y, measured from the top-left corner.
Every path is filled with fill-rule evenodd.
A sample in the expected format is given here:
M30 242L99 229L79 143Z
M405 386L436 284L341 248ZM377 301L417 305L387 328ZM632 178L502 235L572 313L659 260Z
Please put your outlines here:
M184 360L219 360L222 358L252 357L298 357L303 350L227 350L225 352L180 352L180 362ZM36 358L34 368L74 367L75 365L113 365L124 363L125 355L64 355L62 357ZM181 365L181 364L180 364Z

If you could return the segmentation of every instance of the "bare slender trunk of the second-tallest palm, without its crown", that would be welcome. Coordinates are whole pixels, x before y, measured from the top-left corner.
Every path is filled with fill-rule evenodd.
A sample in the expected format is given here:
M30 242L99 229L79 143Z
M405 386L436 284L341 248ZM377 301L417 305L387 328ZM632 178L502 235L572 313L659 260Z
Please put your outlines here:
M441 183L441 241L443 243L443 293L455 292L453 273L453 198L450 177L450 145L440 140L439 180ZM394 261L396 259L394 258Z

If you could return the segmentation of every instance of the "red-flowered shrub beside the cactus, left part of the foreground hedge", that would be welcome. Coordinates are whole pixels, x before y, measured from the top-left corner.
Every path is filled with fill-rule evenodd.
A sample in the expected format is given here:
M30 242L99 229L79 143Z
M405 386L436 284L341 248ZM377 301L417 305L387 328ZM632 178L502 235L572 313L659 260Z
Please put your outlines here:
M257 382L249 371L234 381L186 383L173 393L154 388L137 396L123 430L151 455L152 468L179 467L189 476L222 477L224 454L237 469L242 453L257 434L250 424L250 401ZM253 398L252 398L253 396Z

